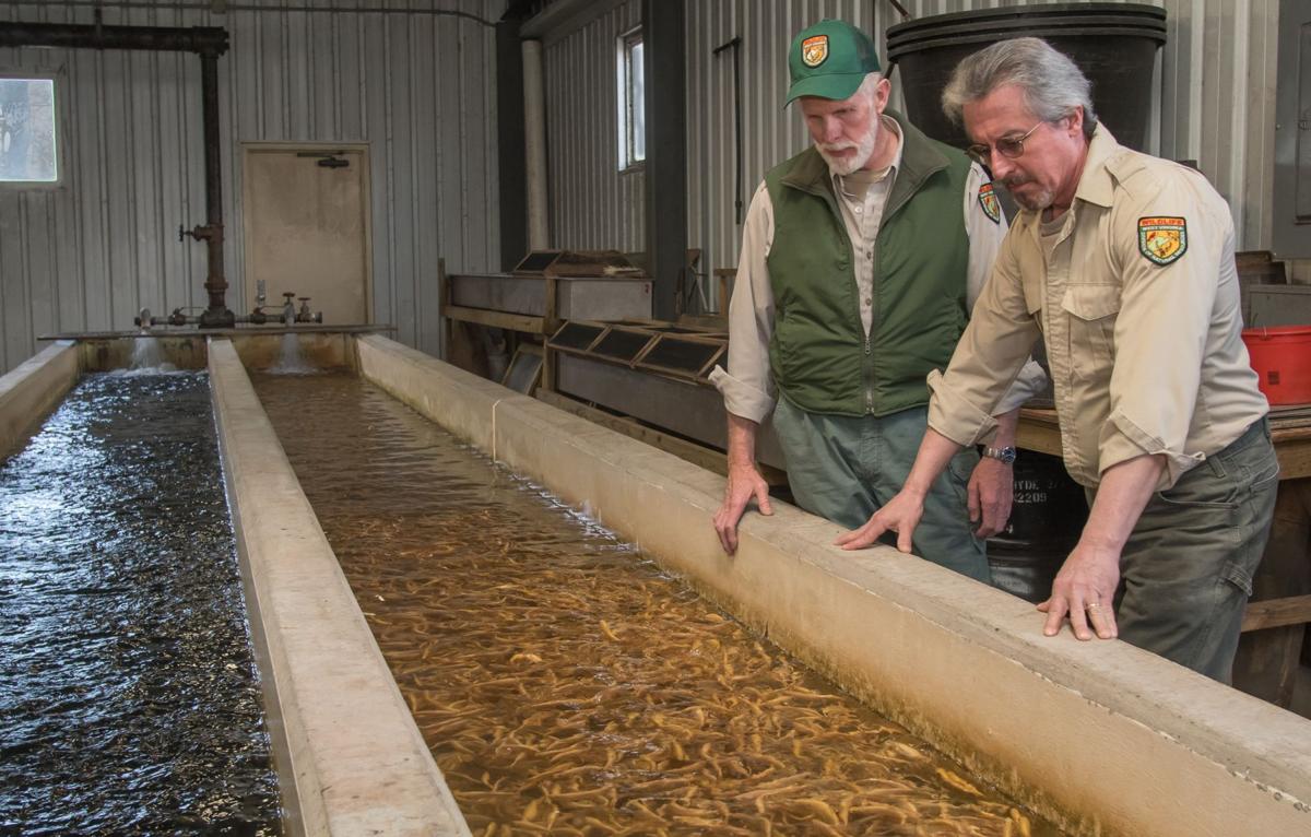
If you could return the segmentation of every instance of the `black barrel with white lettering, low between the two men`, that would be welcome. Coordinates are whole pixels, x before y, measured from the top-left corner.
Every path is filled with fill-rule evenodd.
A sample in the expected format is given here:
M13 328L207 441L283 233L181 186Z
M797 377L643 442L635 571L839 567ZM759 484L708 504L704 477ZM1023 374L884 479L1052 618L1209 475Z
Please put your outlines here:
M1015 459L1011 520L987 542L992 586L1030 602L1045 600L1087 520L1083 487L1070 479L1065 462L1021 450Z

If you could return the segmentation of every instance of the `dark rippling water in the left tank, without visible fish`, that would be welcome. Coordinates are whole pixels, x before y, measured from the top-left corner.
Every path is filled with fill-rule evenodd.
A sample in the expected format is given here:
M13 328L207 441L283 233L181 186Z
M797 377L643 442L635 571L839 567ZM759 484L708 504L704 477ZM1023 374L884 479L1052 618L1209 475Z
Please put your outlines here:
M0 463L0 833L278 834L278 804L207 377L89 375Z

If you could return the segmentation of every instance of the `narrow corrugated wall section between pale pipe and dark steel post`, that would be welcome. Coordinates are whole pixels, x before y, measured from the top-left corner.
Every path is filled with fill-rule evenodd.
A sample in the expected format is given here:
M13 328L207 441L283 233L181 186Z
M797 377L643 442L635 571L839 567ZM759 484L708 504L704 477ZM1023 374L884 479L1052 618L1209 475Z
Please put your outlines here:
M641 22L629 0L558 41L544 41L551 241L645 249L645 172L619 171L616 41Z

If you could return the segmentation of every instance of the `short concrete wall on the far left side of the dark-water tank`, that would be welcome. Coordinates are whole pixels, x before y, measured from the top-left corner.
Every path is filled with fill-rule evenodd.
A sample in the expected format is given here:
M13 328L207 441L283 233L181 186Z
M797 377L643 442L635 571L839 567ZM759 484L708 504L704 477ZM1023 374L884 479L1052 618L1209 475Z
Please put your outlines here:
M26 443L80 374L76 345L59 340L0 377L0 459Z

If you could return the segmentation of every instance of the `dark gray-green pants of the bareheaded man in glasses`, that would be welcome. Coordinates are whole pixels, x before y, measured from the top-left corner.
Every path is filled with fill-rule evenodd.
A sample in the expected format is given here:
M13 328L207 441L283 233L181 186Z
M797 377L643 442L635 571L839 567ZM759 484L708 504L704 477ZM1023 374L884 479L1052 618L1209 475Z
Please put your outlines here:
M1278 478L1262 418L1152 496L1120 560L1120 639L1230 682Z

